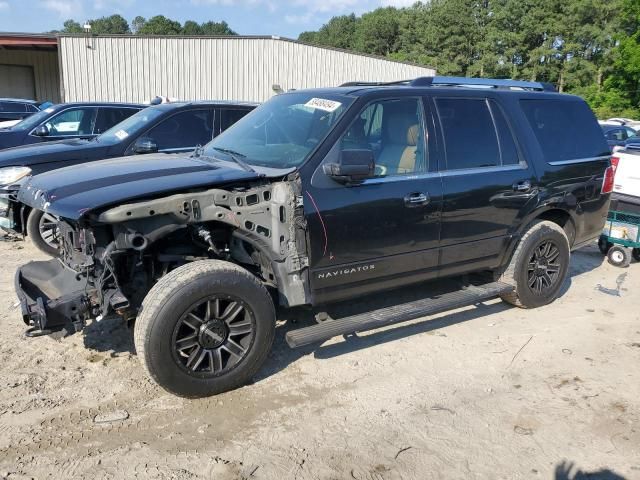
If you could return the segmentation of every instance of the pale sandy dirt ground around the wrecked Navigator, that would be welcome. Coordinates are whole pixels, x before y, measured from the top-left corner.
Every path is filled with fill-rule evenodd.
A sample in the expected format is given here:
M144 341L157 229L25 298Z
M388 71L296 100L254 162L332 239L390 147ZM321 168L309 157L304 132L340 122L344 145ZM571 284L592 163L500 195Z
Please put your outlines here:
M117 320L25 338L13 274L34 258L0 242L2 479L640 479L640 265L595 247L538 310L488 302L302 350L284 334L312 319L287 313L252 385L197 401L145 377Z

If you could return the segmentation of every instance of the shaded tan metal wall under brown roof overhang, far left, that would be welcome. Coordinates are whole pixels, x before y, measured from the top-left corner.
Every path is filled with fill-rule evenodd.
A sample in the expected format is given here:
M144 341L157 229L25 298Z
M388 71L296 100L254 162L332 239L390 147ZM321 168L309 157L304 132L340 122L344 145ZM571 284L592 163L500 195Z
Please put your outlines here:
M58 52L0 50L0 64L33 67L36 100L60 101ZM1 80L0 80L1 81Z

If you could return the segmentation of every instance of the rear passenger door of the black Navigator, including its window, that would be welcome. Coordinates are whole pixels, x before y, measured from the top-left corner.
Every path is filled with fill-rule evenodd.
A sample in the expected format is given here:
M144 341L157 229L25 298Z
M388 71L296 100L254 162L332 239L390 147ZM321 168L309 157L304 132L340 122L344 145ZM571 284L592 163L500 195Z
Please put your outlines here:
M489 98L436 98L441 164L442 275L497 265L505 239L536 195L507 117Z

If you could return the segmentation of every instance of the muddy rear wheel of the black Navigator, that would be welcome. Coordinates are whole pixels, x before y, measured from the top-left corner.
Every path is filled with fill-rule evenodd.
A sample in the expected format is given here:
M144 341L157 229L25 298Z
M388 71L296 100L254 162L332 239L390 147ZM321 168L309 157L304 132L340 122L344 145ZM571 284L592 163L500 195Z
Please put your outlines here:
M502 295L502 300L521 308L553 302L567 276L570 258L569 241L562 227L545 220L533 223L500 278L515 287L512 293Z

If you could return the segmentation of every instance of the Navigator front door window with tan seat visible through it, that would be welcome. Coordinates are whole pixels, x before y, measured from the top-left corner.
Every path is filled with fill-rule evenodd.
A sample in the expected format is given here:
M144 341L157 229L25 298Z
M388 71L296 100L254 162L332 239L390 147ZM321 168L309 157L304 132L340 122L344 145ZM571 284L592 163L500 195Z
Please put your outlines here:
M371 150L376 176L427 171L422 102L417 98L369 104L340 140L341 150Z

